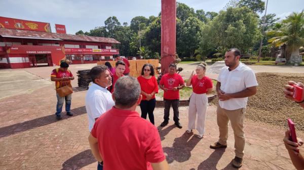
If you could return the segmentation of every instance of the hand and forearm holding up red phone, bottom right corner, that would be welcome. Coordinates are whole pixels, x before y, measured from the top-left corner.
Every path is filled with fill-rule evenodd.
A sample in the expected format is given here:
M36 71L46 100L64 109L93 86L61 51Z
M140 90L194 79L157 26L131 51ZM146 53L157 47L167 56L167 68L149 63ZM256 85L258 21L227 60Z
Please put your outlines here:
M290 138L290 131L287 130L285 132L285 137L283 139L286 149L288 150L288 154L292 161L292 164L295 166L296 169L304 169L304 158L299 151L299 146L302 146L303 142L301 139L297 139L298 143L292 142L289 140Z

